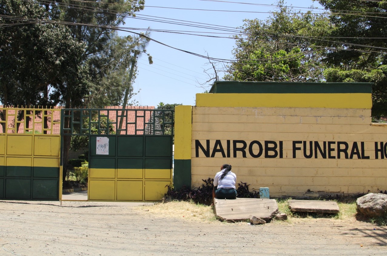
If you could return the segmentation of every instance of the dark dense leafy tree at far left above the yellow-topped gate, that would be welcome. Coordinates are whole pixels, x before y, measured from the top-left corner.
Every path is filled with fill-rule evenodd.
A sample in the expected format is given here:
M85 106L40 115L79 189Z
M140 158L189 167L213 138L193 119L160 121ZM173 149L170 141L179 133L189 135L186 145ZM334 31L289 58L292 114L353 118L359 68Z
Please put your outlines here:
M28 22L46 18L45 9L35 1L0 0L0 15L4 105L55 106L69 94L87 92L89 76L80 58L84 43L72 38L67 27Z

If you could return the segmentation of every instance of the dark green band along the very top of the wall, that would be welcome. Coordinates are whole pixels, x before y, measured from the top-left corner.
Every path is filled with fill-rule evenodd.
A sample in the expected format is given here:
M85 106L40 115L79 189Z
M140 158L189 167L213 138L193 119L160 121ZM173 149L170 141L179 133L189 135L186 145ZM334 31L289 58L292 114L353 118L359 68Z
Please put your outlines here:
M210 93L372 93L373 83L219 81Z

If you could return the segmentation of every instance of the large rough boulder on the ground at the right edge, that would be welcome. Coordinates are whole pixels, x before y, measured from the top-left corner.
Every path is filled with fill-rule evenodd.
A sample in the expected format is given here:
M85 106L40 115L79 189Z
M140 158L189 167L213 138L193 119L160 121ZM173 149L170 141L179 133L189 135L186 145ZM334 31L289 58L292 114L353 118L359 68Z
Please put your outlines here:
M369 193L356 200L358 211L364 215L375 217L387 217L387 195Z

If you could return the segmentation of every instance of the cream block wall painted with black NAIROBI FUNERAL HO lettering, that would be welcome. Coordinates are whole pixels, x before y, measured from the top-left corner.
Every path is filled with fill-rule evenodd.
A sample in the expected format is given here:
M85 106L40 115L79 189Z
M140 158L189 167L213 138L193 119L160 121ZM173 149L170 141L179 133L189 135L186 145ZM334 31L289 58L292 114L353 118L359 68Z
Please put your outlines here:
M215 94L214 94L215 95ZM225 94L217 94L220 97ZM289 96L289 94L288 94ZM211 99L211 94L206 95ZM326 95L326 97L329 97ZM369 96L370 97L370 96ZM237 182L250 184L250 191L268 187L271 196L319 196L323 194L377 193L378 189L387 189L387 157L381 159L381 153L375 156L375 142L387 143L387 126L371 125L369 108L295 108L295 107L193 107L192 112L192 186L198 187L202 179L214 177L224 163L233 166ZM202 149L196 150L197 140L206 149L210 143L209 157ZM223 157L219 146L218 152L212 154L216 140L224 149ZM228 156L227 140L230 150ZM233 140L247 143L246 157L237 151L233 156ZM262 155L252 157L248 147L252 141L263 145ZM265 141L277 143L278 155L275 158L265 157ZM330 143L330 157L322 158L313 152L312 158L303 154L303 144L293 142L317 141ZM338 143L348 143L348 158L340 153ZM355 143L356 142L356 143ZM282 157L279 146L282 143ZM364 145L362 152L361 146ZM238 147L242 144L237 143ZM259 152L257 143L252 144L252 152ZM268 143L268 146L273 146ZM357 146L357 147L356 147ZM293 148L296 157L293 158ZM344 145L340 145L341 148ZM198 152L197 152L198 151ZM345 151L345 150L344 150ZM197 155L198 153L198 155ZM267 152L273 155L274 151ZM309 150L307 150L309 153ZM328 154L328 153L327 153ZM369 157L369 159L368 159ZM360 159L359 159L360 158ZM363 158L363 159L362 159ZM378 159L376 159L378 158Z

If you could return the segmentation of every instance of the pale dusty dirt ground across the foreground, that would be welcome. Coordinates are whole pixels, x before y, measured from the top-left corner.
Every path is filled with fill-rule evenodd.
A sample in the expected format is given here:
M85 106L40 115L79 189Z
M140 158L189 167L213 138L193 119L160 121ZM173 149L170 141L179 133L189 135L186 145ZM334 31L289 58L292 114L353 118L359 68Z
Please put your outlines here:
M0 255L386 255L387 227L334 218L264 225L133 203L0 201ZM362 245L362 246L361 246Z

